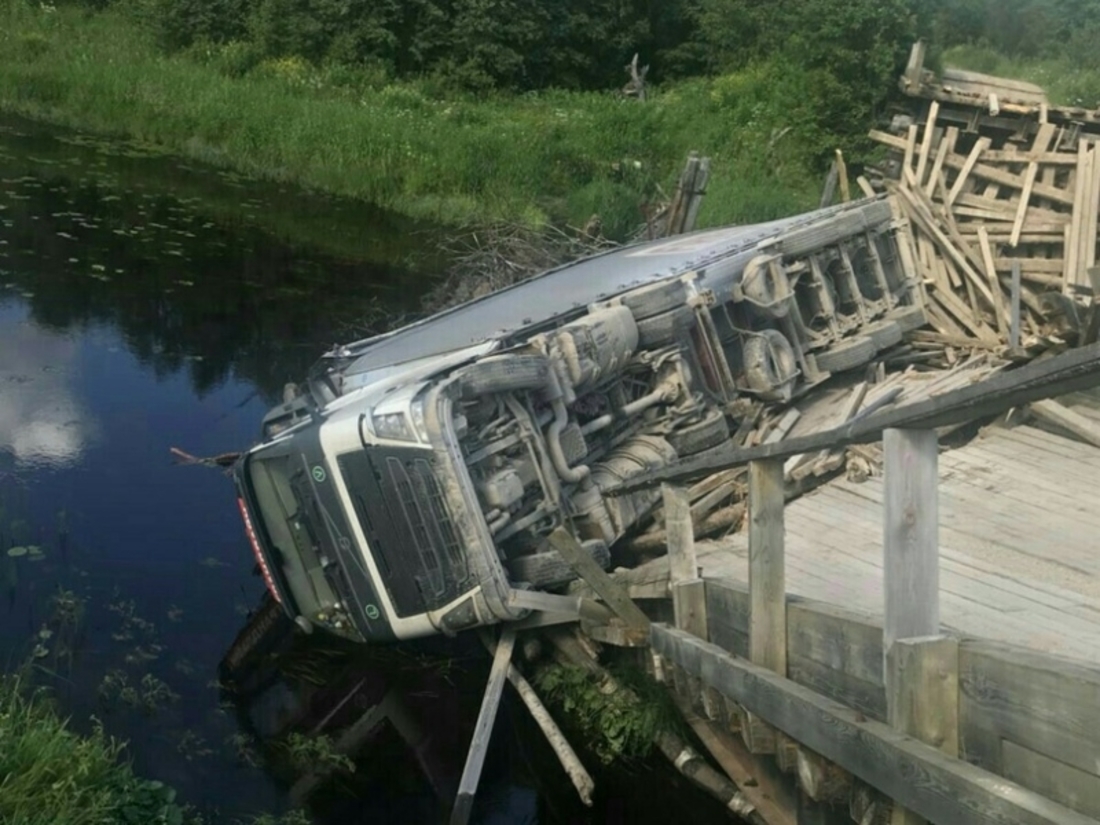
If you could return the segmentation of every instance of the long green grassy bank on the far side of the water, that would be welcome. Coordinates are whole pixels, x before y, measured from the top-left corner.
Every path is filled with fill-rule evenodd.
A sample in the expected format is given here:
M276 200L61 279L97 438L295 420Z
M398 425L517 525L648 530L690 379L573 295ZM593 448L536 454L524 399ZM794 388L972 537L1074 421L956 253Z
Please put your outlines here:
M241 44L169 57L134 21L0 0L0 108L451 224L598 212L622 234L692 150L713 162L701 226L790 215L820 191L825 146L800 111L813 89L785 66L656 89L645 105L454 99L346 67L256 64Z

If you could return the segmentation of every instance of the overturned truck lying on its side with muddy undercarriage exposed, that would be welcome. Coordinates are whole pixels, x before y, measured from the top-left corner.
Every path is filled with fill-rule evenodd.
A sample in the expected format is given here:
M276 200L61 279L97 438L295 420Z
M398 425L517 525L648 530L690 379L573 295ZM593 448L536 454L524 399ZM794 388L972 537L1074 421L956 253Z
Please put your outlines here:
M594 255L326 353L234 466L246 532L307 631L517 620L575 575L556 528L607 566L656 503L605 490L924 322L887 198Z

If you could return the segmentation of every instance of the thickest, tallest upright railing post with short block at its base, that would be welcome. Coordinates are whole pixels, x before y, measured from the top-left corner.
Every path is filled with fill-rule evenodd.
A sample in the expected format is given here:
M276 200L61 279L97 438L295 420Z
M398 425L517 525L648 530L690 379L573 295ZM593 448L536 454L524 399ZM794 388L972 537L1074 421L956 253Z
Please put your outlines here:
M938 442L935 430L886 430L883 681L887 718L958 755L958 642L939 635ZM897 807L891 825L919 825Z

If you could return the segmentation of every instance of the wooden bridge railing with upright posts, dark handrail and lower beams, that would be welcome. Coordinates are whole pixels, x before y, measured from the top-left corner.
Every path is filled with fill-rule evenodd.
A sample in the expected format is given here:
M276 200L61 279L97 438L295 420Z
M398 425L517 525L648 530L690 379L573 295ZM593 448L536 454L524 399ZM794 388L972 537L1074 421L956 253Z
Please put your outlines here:
M974 741L980 743L988 741L990 736L996 738L996 728L1001 722L990 722L988 706L977 712L974 721L960 718L960 696L966 697L966 691L960 691L960 641L944 635L939 624L938 440L933 429L965 420L964 415L974 417L978 415L976 410L996 414L1094 384L1098 376L1100 348L1081 348L1045 363L997 376L985 382L988 385L985 392L967 387L933 402L913 405L908 411L902 408L875 416L872 419L877 420L840 433L840 441L847 443L879 437L883 440L884 618L881 645L877 649L881 650L879 673L884 691L884 719L868 718L860 711L829 698L827 688L823 695L820 690L788 679L792 640L788 634L791 605L784 581L783 460L790 454L831 446L828 433L796 439L787 446L767 446L766 450L743 451L749 453L745 457L749 464L748 620L744 646L747 660L706 641L710 628L718 618L708 615L713 601L706 591L711 584L700 579L691 519L683 513L686 508L684 494L672 484L663 485L670 585L678 627L653 626L650 639L654 653L662 657L669 668L679 669L688 679L698 680L704 692L715 690L735 703L739 708L736 724L743 729L746 724L756 727L762 724L778 732L779 739L762 737L767 743L762 750L774 751L776 741L789 737L800 744L800 761L802 749L805 749L807 762L824 758L890 796L894 800L891 825L915 825L925 820L944 825L1098 822L1081 811L1100 814L1100 725L1096 724L1100 723L1100 668L1070 666L1054 657L1046 659L1047 666L1055 670L1060 668L1067 680L1085 678L1094 691L1086 690L1085 698L1091 695L1093 703L1067 710L1057 707L1056 697L1044 697L1043 708L1036 717L1042 724L1032 725L1026 732L1042 741L1019 743L1027 754L1032 754L1030 746L1038 748L1033 755L1035 758L1027 763L1033 768L1042 767L1043 776L1034 781L1015 777L1033 790L1005 778L1009 771L1003 766L992 765L992 758L983 761L992 769L1000 767L1002 776L957 758L960 730L967 724L983 726L974 737ZM883 424L915 426L882 427ZM730 463L736 461L727 461L723 466ZM718 468L705 470L713 472L715 469ZM688 476L681 468L679 474L673 469L660 481L681 481L683 477ZM1042 654L1023 656L1034 659ZM1087 671L1087 676L1082 671ZM971 681L982 679L980 673L971 673L970 678ZM966 688L978 693L1004 690L1001 682ZM1031 695L1034 700L1035 691L1028 694L1023 690L1020 695ZM1014 696L998 698L1002 713L1016 712ZM1020 712L1026 710L1036 713L1035 708L1019 708ZM981 712L986 712L985 716ZM1089 725L1094 732L1090 733L1090 748L1082 748L1079 740L1068 743L1071 736L1066 723L1075 714L1080 725ZM993 730L989 729L991 726ZM1078 739L1080 735L1078 732ZM1052 750L1067 744L1075 748L1072 760L1060 765L1058 754ZM1091 770L1080 767L1078 757L1085 757L1084 751L1093 759ZM806 777L802 779L805 788Z

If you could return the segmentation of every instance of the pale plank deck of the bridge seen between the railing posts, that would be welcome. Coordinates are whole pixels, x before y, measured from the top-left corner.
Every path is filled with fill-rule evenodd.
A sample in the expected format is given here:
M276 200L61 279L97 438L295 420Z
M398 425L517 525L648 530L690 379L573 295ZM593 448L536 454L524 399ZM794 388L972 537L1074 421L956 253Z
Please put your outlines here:
M1100 662L1100 449L1021 426L939 455L946 629ZM839 480L788 504L787 590L882 616L883 481ZM747 534L701 541L707 579L748 580ZM662 594L668 560L626 574Z

